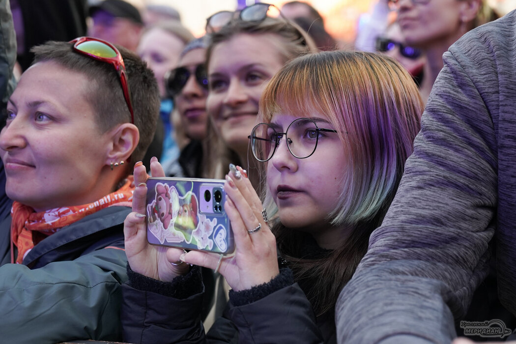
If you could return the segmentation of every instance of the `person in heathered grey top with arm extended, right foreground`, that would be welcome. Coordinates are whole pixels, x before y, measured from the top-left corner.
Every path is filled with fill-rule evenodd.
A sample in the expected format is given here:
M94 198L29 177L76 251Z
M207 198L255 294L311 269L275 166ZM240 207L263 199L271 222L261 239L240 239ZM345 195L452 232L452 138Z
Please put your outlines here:
M394 201L337 301L339 342L449 343L493 253L516 314L515 41L512 11L444 54Z

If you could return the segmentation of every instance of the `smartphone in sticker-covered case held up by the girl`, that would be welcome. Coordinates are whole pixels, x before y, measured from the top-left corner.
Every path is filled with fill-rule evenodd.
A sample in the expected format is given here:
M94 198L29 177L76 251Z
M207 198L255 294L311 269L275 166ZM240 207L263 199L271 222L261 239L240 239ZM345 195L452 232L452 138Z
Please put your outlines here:
M186 250L235 250L223 179L147 179L147 241Z

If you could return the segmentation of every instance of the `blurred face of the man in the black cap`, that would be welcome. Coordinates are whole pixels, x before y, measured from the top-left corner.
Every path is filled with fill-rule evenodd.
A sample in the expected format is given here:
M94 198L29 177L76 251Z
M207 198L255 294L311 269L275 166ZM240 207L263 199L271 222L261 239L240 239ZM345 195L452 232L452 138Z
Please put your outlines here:
M93 25L88 28L88 36L113 44L119 44L136 51L142 26L125 18L114 17L111 13L98 10L92 15Z

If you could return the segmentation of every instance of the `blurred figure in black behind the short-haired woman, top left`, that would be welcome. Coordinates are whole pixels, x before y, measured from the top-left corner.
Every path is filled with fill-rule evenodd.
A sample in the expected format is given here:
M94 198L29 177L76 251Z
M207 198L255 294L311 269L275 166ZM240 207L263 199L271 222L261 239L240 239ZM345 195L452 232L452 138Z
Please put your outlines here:
M86 35L87 0L11 0L10 5L17 40L18 77L34 59L31 47Z

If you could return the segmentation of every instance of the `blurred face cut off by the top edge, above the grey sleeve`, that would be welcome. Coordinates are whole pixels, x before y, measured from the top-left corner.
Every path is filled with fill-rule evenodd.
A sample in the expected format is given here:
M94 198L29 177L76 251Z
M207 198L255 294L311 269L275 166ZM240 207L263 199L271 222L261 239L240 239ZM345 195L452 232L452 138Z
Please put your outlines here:
M463 0L430 0L427 4L400 0L397 22L405 42L423 48L450 39L453 43L460 29L463 5Z

